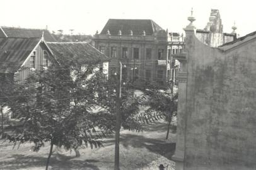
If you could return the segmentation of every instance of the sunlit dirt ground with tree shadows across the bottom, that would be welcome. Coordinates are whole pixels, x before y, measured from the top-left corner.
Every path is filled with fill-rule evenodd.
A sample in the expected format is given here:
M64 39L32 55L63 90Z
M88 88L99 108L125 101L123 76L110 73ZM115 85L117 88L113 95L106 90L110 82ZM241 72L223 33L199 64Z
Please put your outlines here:
M170 130L165 140L166 122L160 120L146 125L143 132L122 130L120 136L120 169L158 169L160 164L174 169L171 157L175 150L175 130ZM38 152L31 150L33 144L21 144L20 148L0 140L0 169L45 169L49 145ZM113 169L114 139L105 139L104 147L81 148L81 156L75 152L54 148L49 169Z

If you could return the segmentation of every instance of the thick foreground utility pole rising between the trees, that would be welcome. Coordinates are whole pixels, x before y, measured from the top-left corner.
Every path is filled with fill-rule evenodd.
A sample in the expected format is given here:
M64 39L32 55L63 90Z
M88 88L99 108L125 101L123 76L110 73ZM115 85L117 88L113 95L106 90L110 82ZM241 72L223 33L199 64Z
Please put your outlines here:
M120 64L120 69L119 69ZM115 122L115 170L119 168L119 143L120 143L120 128L121 128L121 95L122 95L122 63L117 57L117 90L116 90L116 122Z

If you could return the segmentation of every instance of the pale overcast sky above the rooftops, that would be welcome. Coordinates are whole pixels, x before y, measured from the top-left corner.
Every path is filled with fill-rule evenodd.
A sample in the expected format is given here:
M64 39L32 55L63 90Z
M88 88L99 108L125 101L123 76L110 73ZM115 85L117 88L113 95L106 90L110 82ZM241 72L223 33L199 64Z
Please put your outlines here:
M219 9L225 32L236 21L240 36L256 31L253 0L1 0L0 25L45 28L50 31L73 29L95 34L109 18L151 19L169 31L182 32L194 9L197 28L204 28L211 9Z

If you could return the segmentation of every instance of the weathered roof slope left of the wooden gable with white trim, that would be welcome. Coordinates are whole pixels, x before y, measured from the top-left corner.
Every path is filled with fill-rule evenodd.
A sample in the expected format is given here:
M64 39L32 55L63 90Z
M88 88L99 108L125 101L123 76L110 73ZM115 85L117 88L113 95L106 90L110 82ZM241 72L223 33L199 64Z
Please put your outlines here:
M20 69L40 38L0 38L0 72Z

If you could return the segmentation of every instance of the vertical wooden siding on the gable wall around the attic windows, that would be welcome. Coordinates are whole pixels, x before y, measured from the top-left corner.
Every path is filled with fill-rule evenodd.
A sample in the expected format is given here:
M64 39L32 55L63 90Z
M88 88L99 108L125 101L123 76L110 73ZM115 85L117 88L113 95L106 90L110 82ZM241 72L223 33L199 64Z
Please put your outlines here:
M50 55L49 50L43 43L40 43L35 50L37 51L35 56L35 69L41 69L43 65L43 51L46 50L48 52L50 60L53 57L52 55ZM30 59L28 59L26 60L23 67L21 67L21 69L18 72L16 72L16 80L25 81L30 72Z

